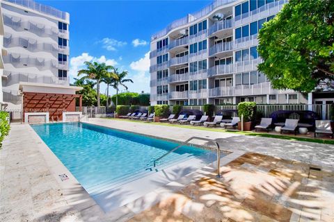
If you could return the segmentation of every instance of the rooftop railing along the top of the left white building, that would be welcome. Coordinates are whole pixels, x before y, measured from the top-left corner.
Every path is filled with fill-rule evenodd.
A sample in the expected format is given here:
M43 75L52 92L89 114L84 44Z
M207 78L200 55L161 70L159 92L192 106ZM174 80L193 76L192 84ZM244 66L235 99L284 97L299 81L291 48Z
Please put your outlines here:
M15 3L16 5L30 8L42 14L51 15L59 19L64 19L64 20L70 19L70 14L68 14L67 12L62 12L61 10L58 10L56 8L42 5L41 3L37 3L32 0L5 0L5 1L8 1L10 3Z

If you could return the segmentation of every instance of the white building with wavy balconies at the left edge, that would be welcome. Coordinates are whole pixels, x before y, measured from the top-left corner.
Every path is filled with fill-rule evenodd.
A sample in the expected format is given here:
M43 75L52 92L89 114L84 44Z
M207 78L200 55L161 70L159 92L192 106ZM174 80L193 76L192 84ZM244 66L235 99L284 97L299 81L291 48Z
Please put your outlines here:
M70 15L31 0L2 0L1 101L10 110L22 109L24 83L45 87L69 86L68 56ZM0 62L1 63L1 62ZM0 64L1 68L1 64ZM59 89L59 93L61 93ZM38 90L36 90L38 92ZM75 94L75 92L74 92Z

